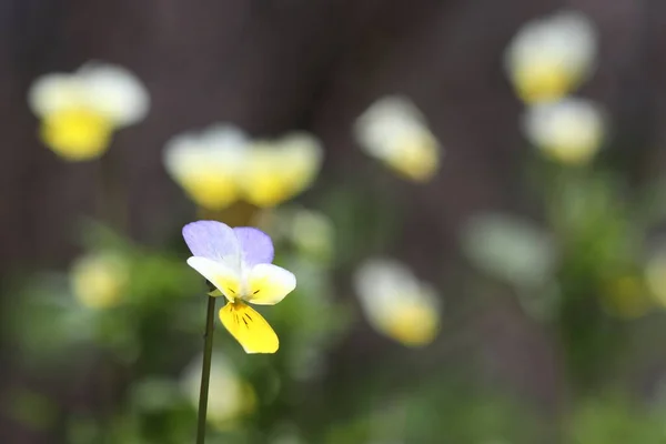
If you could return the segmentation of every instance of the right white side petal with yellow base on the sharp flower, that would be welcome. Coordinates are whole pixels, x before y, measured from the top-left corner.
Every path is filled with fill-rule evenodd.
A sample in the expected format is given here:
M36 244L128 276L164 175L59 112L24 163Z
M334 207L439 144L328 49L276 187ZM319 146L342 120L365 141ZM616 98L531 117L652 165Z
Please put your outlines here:
M296 287L296 276L273 264L254 265L248 276L250 291L245 301L258 305L274 305Z

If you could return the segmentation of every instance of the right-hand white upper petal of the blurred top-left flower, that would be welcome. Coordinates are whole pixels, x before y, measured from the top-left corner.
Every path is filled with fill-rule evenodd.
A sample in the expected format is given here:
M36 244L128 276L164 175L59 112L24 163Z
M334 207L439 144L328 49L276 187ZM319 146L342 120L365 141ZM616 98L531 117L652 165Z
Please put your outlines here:
M88 89L90 105L117 125L137 123L148 114L148 90L129 70L113 64L88 63L77 75Z

